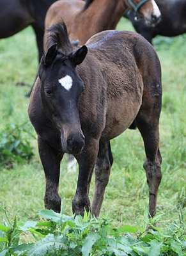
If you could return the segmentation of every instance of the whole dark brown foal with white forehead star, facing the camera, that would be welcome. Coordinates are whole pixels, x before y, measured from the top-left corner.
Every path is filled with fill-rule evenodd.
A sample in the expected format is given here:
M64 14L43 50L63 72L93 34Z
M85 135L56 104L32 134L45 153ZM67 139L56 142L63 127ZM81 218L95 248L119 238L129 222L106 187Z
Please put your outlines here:
M110 140L132 125L144 140L149 210L154 216L162 161L161 70L155 50L143 36L129 31L103 31L82 47L70 43L64 22L48 33L28 109L45 172L45 208L60 212L60 162L68 153L79 164L73 212L89 211L95 166L91 214L98 216L113 161Z

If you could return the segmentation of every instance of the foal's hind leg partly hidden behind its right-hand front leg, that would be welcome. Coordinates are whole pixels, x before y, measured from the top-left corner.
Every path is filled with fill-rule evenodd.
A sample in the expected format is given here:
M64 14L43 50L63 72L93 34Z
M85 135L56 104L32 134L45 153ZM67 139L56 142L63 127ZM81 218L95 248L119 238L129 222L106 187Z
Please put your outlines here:
M95 165L95 193L91 204L91 214L96 217L100 214L105 188L109 182L112 163L113 157L110 141L100 143Z

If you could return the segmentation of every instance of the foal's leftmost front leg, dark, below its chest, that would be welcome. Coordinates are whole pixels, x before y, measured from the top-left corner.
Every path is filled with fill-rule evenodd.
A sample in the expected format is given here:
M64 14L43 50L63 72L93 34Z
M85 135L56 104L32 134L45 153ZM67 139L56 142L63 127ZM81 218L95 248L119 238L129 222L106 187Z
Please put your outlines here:
M40 136L38 136L38 149L45 172L45 208L60 212L61 198L58 195L58 184L63 154L47 145Z

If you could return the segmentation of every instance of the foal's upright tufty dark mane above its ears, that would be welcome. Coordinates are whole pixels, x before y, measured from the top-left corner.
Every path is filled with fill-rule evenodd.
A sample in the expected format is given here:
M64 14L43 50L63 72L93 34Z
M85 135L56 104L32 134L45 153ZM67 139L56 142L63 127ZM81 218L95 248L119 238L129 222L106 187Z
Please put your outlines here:
M70 43L70 39L68 37L66 25L63 20L47 29L46 37L47 49L49 49L49 47L53 44L57 43L58 49L61 49L64 54L69 54L73 51L72 44Z

